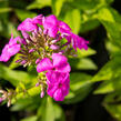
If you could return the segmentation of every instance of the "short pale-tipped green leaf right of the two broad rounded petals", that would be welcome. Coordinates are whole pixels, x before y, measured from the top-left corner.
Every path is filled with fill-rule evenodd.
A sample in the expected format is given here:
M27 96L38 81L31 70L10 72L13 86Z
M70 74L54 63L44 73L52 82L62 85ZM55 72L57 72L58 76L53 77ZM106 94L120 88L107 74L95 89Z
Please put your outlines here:
M93 63L91 59L82 58L82 59L69 59L69 63L72 69L75 70L97 70L97 65Z

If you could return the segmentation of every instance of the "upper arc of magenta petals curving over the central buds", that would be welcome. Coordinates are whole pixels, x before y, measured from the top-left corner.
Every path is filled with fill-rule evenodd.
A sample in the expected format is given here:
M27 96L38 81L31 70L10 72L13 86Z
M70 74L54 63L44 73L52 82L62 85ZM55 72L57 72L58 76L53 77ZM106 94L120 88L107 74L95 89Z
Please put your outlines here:
M73 49L88 49L89 41L85 41L82 37L72 33L71 28L63 21L57 19L56 16L43 17L42 14L33 18L26 19L19 27L18 30L22 31L34 31L38 30L38 24L43 26L43 32L52 38L57 38L58 33L61 33L62 38L71 43Z

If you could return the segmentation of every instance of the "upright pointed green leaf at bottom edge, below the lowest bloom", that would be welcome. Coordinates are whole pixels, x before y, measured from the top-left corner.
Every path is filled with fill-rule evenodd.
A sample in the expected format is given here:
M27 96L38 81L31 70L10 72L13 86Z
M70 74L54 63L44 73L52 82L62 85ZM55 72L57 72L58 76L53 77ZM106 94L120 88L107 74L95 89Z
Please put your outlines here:
M61 107L53 103L50 97L46 97L42 100L42 103L38 109L38 117L41 121L65 121Z

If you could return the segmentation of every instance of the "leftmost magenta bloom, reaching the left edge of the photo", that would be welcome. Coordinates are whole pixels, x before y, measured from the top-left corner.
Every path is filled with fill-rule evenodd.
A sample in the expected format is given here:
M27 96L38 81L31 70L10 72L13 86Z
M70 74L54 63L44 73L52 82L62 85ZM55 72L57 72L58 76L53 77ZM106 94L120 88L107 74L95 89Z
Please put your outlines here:
M13 39L13 36L11 36L9 43L6 44L6 47L2 50L2 53L0 56L0 61L7 62L10 59L10 57L14 56L20 51L21 46L17 43L17 41L21 41L21 38L17 37Z

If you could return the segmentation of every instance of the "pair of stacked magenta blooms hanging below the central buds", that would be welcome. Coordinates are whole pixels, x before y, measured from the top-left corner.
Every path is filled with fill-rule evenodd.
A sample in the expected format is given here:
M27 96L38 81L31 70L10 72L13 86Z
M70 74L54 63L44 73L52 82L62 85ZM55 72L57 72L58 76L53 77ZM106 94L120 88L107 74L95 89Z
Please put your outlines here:
M52 61L49 58L42 59L37 65L37 71L48 71L46 73L48 94L56 101L63 101L69 93L69 72L71 68L68 59L60 53L53 53Z

